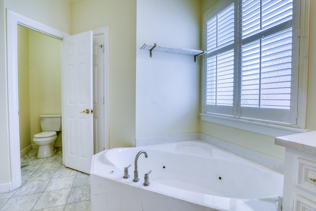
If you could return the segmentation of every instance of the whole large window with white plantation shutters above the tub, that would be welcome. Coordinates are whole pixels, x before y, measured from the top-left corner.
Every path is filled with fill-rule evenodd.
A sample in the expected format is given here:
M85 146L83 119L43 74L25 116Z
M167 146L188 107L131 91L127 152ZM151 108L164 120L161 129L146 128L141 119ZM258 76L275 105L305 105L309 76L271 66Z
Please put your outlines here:
M206 12L202 112L298 127L299 19L292 0L223 0Z

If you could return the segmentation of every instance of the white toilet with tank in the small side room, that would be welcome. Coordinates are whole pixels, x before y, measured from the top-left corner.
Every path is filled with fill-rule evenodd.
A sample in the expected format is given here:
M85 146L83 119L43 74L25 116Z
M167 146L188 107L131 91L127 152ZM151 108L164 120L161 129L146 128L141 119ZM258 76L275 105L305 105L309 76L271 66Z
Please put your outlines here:
M42 132L33 136L33 141L39 146L38 158L48 158L55 154L53 144L61 131L61 115L40 115Z

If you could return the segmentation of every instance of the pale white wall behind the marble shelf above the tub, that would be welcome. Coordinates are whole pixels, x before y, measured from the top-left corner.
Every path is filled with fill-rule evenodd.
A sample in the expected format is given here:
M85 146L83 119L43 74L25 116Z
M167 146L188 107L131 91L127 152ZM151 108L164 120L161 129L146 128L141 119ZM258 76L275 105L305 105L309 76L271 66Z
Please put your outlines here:
M200 1L137 0L136 138L198 132L199 61L139 48L199 49Z

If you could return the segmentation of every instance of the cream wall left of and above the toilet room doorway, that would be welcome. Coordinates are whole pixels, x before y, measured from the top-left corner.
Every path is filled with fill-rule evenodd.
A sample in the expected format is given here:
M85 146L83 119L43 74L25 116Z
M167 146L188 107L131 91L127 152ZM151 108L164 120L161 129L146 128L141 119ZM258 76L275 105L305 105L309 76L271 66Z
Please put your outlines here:
M31 17L60 31L70 32L70 5L64 0L0 0L0 188L11 183L5 49L6 9Z

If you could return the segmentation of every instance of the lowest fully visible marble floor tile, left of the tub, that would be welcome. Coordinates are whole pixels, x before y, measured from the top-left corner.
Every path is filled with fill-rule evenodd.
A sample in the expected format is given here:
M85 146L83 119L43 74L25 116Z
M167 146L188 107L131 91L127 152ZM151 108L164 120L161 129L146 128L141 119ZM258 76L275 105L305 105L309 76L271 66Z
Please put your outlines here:
M70 190L71 188L42 193L33 210L66 205Z

